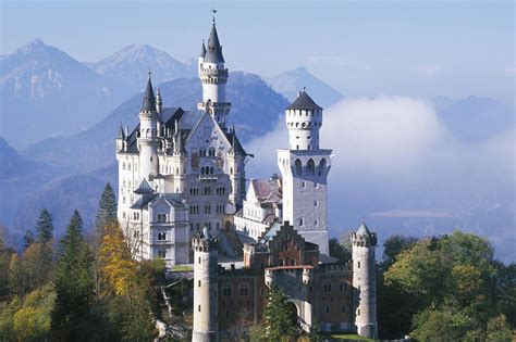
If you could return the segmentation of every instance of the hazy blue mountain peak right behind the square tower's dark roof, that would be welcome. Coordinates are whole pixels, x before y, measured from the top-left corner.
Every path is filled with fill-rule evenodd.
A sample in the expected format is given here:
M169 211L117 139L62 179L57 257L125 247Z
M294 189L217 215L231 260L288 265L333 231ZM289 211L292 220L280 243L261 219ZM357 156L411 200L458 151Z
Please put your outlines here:
M325 109L344 98L339 90L311 75L303 66L278 76L265 77L263 79L274 91L284 96L288 101L294 101L298 91L303 90L304 87L306 87L310 97L316 99L317 103Z

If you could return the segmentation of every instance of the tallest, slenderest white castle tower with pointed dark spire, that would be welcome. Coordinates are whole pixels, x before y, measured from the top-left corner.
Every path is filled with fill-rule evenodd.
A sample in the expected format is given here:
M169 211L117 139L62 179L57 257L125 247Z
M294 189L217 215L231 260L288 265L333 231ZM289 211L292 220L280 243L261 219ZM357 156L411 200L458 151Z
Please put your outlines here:
M231 110L231 103L225 101L225 84L228 83L228 69L224 67L222 46L219 41L213 16L208 47L202 47L198 56L198 73L202 84L202 102L197 104L201 111L208 111L225 129L226 116Z

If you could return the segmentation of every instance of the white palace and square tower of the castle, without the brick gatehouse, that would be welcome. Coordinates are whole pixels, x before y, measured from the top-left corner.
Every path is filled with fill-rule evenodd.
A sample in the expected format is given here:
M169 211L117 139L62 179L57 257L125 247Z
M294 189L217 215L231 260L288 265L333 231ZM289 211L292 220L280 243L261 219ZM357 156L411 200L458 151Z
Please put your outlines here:
M290 147L278 152L281 179L251 180L246 199L249 154L228 125L229 73L214 20L198 56L198 75L202 101L188 112L163 107L149 72L139 125L131 132L121 127L116 137L118 217L136 257L163 258L168 267L186 264L192 236L204 227L212 235L237 231L258 240L282 220L328 254L332 155L319 147L322 109L299 92L285 113ZM263 199L263 191L272 191L272 198Z

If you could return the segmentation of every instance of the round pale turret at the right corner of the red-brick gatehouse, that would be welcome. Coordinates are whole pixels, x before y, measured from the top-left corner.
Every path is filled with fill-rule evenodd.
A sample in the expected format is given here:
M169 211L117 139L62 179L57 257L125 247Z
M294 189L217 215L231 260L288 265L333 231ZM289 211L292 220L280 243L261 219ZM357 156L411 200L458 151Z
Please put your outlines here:
M377 235L361 224L352 232L353 243L353 296L357 333L370 339L378 338L377 277L374 248Z

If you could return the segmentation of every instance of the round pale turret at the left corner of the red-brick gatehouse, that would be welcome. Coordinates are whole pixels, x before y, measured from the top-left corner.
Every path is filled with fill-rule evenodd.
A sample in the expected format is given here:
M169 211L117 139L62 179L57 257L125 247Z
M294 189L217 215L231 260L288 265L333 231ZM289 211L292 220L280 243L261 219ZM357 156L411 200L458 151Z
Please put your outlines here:
M218 239L205 227L192 239L194 250L194 331L192 341L219 341Z

